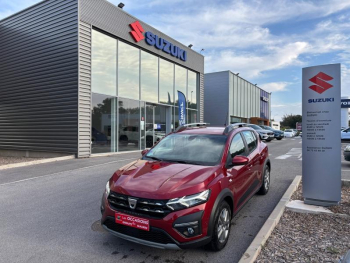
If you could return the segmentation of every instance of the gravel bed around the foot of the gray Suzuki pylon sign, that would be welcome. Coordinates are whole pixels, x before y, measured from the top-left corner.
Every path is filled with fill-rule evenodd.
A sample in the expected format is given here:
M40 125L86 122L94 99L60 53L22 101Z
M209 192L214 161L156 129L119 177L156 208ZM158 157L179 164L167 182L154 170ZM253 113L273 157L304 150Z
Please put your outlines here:
M303 200L301 184L292 199ZM256 262L338 262L350 250L350 187L329 209L336 214L286 210Z

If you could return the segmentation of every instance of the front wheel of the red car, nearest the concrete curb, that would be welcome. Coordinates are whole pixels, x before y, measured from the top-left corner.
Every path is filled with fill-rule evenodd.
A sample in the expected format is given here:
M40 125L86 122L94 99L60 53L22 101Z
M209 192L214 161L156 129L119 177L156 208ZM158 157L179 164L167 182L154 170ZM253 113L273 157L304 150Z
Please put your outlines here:
M209 243L213 251L220 251L227 244L231 229L231 213L231 208L226 201L222 201L215 211L214 231ZM220 230L222 230L221 234Z

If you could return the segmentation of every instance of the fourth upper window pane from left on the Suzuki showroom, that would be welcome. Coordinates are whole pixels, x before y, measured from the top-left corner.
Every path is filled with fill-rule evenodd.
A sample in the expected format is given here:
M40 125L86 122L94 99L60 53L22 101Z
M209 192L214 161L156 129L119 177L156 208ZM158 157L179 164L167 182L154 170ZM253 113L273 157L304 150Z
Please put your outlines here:
M159 102L174 103L174 64L159 59Z

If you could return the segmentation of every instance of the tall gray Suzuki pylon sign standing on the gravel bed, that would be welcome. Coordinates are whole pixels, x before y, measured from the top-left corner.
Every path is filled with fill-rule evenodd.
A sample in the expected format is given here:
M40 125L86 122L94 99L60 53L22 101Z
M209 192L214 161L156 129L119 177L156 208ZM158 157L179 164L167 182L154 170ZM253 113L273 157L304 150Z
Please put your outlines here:
M340 64L303 68L303 196L306 204L341 198Z

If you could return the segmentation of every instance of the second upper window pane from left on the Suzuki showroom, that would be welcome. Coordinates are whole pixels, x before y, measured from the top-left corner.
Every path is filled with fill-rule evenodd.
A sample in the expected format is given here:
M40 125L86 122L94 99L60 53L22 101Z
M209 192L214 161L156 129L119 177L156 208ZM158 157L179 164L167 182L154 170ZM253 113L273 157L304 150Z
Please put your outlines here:
M118 42L118 96L139 99L140 50Z

